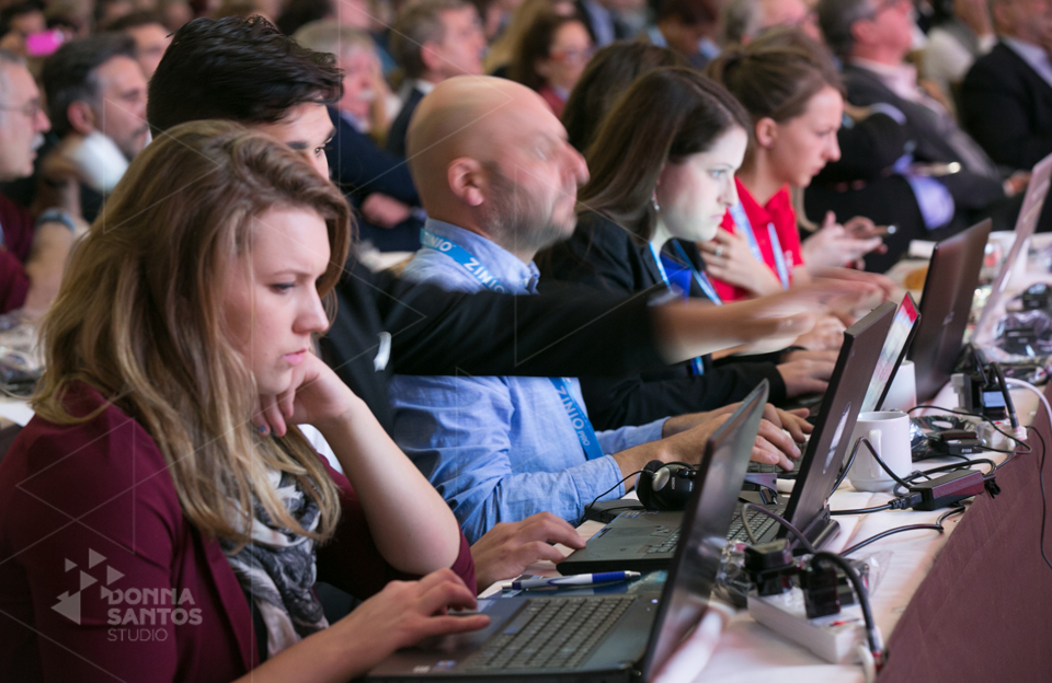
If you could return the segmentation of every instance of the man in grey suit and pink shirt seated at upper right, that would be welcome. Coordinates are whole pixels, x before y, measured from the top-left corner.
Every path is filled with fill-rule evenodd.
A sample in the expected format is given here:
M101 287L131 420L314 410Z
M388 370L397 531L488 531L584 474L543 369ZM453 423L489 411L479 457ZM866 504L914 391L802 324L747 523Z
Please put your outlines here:
M820 0L819 24L830 48L844 63L847 100L857 107L877 107L905 128L905 154L884 169L889 193L873 193L850 207L848 215L866 215L874 205L901 206L894 220L910 238L941 239L991 216L1010 227L1011 204L1026 178L1005 180L982 148L968 136L944 104L917 82L916 69L905 61L913 40L910 0ZM844 163L853 163L845 154ZM904 183L903 183L904 182ZM903 187L913 202L904 202ZM842 199L858 199L866 189L848 183ZM917 218L919 217L919 224ZM888 218L894 218L890 216Z

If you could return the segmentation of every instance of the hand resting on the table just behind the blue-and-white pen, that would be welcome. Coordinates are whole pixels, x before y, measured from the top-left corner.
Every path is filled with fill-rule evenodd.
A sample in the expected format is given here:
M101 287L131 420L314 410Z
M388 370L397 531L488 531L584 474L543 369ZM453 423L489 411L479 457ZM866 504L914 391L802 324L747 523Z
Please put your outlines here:
M479 590L515 578L536 562L562 562L563 555L551 545L553 543L571 548L584 547L576 530L551 512L539 512L521 522L496 524L471 546Z

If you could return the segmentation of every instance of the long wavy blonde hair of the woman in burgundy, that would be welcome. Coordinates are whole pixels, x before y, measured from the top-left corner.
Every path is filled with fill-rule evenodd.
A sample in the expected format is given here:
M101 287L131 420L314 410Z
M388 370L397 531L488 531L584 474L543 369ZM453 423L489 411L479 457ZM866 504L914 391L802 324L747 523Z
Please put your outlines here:
M328 180L230 121L183 124L150 143L70 261L43 322L46 371L33 398L41 417L77 424L98 412L71 415L67 393L77 382L96 389L153 438L191 522L237 549L250 541L253 498L278 526L318 541L340 517L336 486L302 433L253 429L255 380L225 320L225 274L249 256L252 218L272 208L325 220L331 261L318 291L331 319L351 212ZM317 500L316 532L288 513L268 470Z

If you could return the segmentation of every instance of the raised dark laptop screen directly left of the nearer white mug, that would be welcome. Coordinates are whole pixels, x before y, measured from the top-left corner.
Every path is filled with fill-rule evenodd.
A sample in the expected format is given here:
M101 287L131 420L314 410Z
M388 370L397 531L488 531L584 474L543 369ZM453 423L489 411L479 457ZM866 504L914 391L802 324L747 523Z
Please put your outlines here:
M786 507L786 518L804 533L828 502L895 309L893 301L885 301L844 332L822 412Z

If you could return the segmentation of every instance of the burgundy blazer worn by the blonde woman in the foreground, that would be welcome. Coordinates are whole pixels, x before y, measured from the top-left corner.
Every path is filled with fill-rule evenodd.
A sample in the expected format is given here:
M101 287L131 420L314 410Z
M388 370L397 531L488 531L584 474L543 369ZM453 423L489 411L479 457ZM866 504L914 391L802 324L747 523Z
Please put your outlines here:
M81 385L75 415L103 405ZM328 467L328 465L327 465ZM318 580L365 599L385 562L347 479ZM467 541L453 567L474 589ZM174 592L173 592L174 589ZM232 681L256 665L248 601L219 543L183 517L164 459L114 406L39 417L0 464L0 681Z

